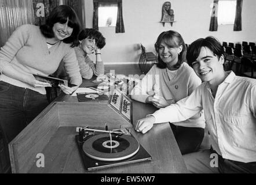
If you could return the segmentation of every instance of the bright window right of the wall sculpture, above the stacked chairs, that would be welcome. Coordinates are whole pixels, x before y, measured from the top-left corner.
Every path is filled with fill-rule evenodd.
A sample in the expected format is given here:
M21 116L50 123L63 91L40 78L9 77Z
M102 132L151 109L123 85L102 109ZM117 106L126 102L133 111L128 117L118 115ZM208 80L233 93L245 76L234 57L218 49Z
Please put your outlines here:
M236 1L218 2L218 24L234 24L236 15Z

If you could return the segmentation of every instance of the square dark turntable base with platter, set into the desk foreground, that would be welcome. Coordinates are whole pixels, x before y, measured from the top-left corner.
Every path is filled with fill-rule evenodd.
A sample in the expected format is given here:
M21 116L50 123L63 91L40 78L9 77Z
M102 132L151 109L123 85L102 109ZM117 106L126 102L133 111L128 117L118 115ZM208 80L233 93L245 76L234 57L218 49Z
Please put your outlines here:
M124 149L123 146L125 146L125 142L118 142L119 144L117 147L114 147L113 153L109 153L108 151L98 151L105 150L104 147L101 147L101 145L97 145L96 149L93 149L93 143L97 144L97 142L108 142L108 139L105 139L107 138L107 136L108 134L98 134L85 140L85 142L80 142L79 135L76 135L76 143L78 143L83 164L88 171L109 168L112 166L131 164L134 162L149 161L152 159L148 152L140 145L140 143L137 142L136 139L133 138L133 136L122 136L122 139L125 138L125 141L129 140L129 142L131 142L131 145L133 146ZM100 139L103 139L103 141L101 141ZM88 145L90 145L90 147L89 149L86 149ZM121 147L119 147L120 145Z

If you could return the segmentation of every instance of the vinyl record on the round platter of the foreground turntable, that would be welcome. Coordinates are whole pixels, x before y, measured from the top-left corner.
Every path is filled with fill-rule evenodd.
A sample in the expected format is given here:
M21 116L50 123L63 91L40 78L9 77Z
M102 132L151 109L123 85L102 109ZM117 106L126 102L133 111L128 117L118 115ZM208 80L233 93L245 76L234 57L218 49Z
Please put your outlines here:
M120 161L134 156L140 149L138 141L129 135L116 137L112 134L112 147L109 134L98 134L83 143L83 151L91 158L100 161Z

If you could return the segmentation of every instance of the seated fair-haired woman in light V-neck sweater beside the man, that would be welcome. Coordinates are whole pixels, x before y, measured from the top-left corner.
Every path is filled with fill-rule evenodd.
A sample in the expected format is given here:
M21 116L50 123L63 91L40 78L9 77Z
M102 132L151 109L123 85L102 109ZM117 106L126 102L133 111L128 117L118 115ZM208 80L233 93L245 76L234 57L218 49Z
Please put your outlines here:
M131 91L131 98L165 108L187 97L201 84L193 69L186 64L186 47L182 36L175 31L165 31L155 43L158 64ZM199 149L204 137L205 120L200 112L182 123L170 123L181 153ZM184 125L184 124L183 124Z

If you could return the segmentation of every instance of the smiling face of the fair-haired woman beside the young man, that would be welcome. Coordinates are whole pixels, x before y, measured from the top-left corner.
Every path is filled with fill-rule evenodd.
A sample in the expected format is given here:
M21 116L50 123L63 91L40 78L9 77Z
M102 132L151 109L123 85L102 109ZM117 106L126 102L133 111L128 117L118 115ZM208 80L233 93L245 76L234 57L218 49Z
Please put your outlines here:
M167 68L170 70L174 70L174 65L178 62L178 53L182 51L182 46L179 47L171 47L167 45L165 42L160 42L158 48L158 54L161 60L167 64Z

